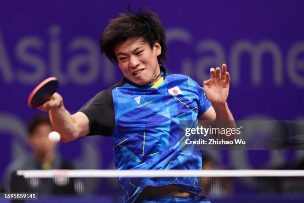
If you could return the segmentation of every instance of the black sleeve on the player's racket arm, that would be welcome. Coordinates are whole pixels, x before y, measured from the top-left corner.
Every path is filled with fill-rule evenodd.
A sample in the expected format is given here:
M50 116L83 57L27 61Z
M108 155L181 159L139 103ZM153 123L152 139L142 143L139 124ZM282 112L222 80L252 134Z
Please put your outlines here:
M112 90L122 85L123 83L120 82L109 89L99 92L78 110L83 112L89 119L90 132L88 135L112 136L115 127Z

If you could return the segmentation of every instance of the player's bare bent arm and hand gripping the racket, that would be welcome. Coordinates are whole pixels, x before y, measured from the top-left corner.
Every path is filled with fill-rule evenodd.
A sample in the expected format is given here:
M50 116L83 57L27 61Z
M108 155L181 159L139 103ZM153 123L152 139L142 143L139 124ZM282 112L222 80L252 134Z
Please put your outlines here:
M69 142L89 133L89 119L82 112L71 115L65 108L61 95L55 93L48 102L38 109L49 111L50 120L55 131L61 135L61 141Z

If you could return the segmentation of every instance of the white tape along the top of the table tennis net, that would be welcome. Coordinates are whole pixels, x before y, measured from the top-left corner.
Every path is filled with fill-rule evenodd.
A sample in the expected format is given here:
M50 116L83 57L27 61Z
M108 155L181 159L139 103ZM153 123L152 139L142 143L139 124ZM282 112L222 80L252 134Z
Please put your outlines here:
M304 170L20 170L24 178L302 177Z

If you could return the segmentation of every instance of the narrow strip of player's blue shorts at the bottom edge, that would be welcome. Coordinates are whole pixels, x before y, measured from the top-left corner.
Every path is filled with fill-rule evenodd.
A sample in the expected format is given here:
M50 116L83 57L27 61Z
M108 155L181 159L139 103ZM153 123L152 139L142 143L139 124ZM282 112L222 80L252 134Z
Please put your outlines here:
M139 196L135 203L211 203L209 201L203 201L206 196L190 196L187 198L172 198L163 196Z

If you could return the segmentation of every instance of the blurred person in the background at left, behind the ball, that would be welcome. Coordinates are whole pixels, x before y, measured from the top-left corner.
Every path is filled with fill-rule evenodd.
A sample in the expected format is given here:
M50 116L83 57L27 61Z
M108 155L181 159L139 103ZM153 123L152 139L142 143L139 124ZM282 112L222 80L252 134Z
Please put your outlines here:
M14 173L17 170L74 169L74 166L56 154L56 143L48 139L53 131L48 116L36 115L27 126L27 138L31 146L30 155L22 154L12 161L4 172L5 192L38 192L40 194L74 194L74 181L69 179L21 180ZM12 177L15 177L12 180ZM17 180L17 183L15 182ZM11 184L14 181L14 184Z

